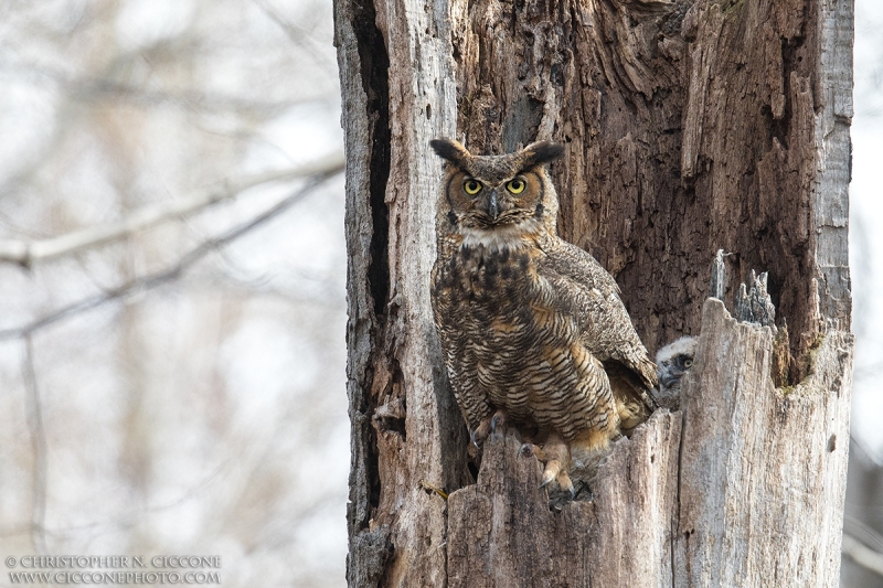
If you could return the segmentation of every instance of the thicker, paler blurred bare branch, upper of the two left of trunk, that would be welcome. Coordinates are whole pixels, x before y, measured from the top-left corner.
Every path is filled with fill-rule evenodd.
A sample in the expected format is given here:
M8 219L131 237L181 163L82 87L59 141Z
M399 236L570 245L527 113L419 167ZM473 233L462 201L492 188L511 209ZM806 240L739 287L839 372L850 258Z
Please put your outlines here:
M65 235L40 240L0 240L0 261L30 267L44 261L82 252L98 245L126 237L170 218L193 214L206 206L231 199L249 188L308 175L333 175L343 170L343 153L337 152L319 161L299 168L257 173L234 181L224 181L217 186L199 192L190 197L147 206L118 223L89 226Z

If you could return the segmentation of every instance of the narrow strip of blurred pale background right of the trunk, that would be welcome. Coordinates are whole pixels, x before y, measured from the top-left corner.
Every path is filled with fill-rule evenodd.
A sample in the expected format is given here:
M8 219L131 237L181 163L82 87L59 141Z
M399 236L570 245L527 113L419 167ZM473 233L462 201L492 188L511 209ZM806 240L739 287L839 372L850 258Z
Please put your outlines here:
M883 4L855 0L850 266L855 366L841 586L883 588ZM858 562L862 562L860 565ZM875 568L876 570L872 569Z

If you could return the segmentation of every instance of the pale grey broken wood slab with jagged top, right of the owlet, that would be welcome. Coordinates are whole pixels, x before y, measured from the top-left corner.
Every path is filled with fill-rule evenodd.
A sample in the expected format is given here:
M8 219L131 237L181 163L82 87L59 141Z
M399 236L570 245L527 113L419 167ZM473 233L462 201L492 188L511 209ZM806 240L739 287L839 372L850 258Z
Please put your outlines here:
M809 376L776 388L768 328L709 300L687 375L675 586L837 586L852 335L829 331Z

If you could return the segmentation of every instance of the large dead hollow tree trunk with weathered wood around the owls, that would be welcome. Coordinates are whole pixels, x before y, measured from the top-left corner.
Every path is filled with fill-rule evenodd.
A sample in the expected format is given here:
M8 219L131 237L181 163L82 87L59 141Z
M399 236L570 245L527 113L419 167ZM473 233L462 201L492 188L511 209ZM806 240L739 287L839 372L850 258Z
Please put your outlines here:
M336 0L351 586L837 585L852 19L852 0ZM438 136L564 143L563 236L648 349L701 333L681 410L615 446L591 503L551 512L512 437L467 468L429 311ZM790 340L706 301L719 248L730 308L769 271Z

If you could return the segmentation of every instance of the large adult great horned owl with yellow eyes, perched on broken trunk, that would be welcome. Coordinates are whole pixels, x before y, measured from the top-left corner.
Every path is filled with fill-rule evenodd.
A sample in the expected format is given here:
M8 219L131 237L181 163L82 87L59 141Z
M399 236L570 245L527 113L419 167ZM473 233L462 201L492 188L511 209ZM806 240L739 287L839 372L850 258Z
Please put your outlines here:
M536 445L543 485L573 494L568 470L647 418L656 366L613 277L557 236L557 194L538 142L447 161L432 301L451 387L474 438L509 419Z

